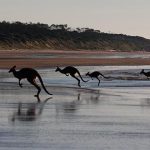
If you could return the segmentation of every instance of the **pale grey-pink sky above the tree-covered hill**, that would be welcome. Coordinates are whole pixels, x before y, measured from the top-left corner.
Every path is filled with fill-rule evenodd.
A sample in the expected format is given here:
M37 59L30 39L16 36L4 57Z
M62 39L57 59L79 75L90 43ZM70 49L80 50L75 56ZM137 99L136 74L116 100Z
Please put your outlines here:
M150 0L0 0L0 21L67 24L150 39Z

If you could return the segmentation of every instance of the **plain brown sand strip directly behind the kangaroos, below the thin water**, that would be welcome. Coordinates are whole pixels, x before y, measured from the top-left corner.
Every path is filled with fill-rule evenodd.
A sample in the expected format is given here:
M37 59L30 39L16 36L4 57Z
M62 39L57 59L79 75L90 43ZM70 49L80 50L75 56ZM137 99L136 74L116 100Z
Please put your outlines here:
M150 59L133 58L111 58L111 59L92 59L92 58L50 58L50 59L2 59L0 69L8 69L16 65L21 67L47 68L56 66L124 66L124 65L150 65Z

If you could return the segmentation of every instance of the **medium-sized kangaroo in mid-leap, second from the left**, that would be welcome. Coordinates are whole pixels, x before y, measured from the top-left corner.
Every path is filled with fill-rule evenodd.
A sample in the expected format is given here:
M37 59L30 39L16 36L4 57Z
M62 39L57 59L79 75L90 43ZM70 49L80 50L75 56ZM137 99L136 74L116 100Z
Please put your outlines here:
M57 71L59 71L59 72L65 74L66 76L69 76L69 74L70 74L73 78L75 78L75 79L78 81L78 86L79 86L79 87L81 87L81 86L80 86L80 79L78 79L78 78L75 76L76 73L79 75L79 77L81 78L81 80L82 80L83 82L88 82L88 81L83 80L83 78L81 77L80 72L79 72L78 69L76 69L75 67L67 66L67 67L65 67L64 69L60 69L59 67L57 67L56 70L55 70L55 72L57 72Z

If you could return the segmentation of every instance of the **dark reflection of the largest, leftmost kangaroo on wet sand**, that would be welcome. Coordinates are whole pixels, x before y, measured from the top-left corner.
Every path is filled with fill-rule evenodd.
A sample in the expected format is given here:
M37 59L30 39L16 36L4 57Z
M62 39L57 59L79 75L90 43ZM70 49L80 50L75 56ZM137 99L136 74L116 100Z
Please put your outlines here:
M51 99L47 98L45 101L41 103L28 103L28 104L18 104L18 110L12 116L12 121L34 121L36 120L43 112L44 106L46 102ZM39 100L39 97L38 97ZM24 106L24 107L23 107Z

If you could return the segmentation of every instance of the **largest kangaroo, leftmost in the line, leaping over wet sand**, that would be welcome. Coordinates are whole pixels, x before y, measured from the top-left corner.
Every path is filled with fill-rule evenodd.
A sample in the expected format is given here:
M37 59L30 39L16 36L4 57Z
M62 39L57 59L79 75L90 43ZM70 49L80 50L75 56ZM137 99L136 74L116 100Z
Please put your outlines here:
M52 95L52 94L50 94L50 93L46 90L46 88L45 88L45 86L44 86L44 83L43 83L43 81L42 81L42 78L41 78L40 74L39 74L36 70L34 70L34 69L32 69L32 68L22 68L22 69L20 69L19 71L16 71L15 68L16 68L16 66L13 66L13 67L9 70L9 73L12 72L12 73L14 74L14 76L19 79L19 86L20 86L20 87L22 87L22 83L20 83L21 79L26 78L26 79L29 81L29 83L31 83L32 85L34 85L34 86L38 89L37 95L35 95L35 96L36 96L36 97L39 97L39 94L40 94L40 92L41 92L41 88L40 88L40 87L37 85L37 83L35 82L36 77L38 77L38 79L39 79L40 82L41 82L41 85L42 85L43 89L45 90L45 92L46 92L47 94L49 94L49 95Z

